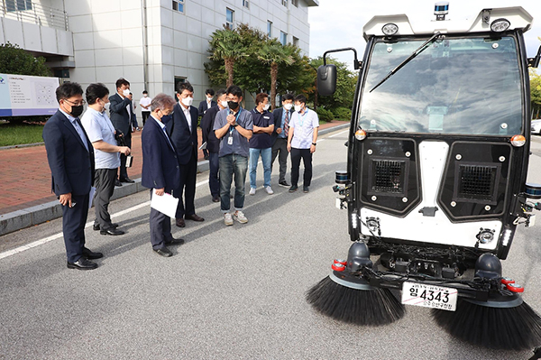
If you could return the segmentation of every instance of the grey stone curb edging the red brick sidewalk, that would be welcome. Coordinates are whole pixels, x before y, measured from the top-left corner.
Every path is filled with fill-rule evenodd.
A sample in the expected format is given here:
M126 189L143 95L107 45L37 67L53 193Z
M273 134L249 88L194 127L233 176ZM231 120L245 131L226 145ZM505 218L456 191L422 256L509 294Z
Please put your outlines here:
M321 130L319 134L324 135L333 133L348 128L349 126L349 124L343 124L327 127L326 129ZM209 165L207 160L197 162L197 172L208 171L208 168ZM135 183L133 184L123 183L122 187L115 187L115 192L113 193L111 200L124 198L144 190L148 189L141 185L141 178L135 179ZM5 215L0 215L0 236L59 217L62 217L62 208L58 201L50 201L31 208L24 208Z

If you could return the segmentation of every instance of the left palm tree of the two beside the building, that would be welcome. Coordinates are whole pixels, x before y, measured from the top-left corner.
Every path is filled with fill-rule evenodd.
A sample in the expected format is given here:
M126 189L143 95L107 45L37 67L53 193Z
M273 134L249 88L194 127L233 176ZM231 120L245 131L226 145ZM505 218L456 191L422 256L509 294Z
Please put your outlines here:
M227 72L227 87L233 85L234 63L246 56L246 48L243 45L241 35L227 28L216 30L211 35L210 48L214 49L210 59L224 61Z

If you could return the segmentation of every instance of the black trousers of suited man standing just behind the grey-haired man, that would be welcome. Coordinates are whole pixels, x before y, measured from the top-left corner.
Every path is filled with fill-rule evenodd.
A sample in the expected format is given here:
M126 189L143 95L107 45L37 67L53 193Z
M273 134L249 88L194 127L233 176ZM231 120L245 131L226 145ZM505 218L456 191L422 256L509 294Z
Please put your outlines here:
M177 207L177 218L192 216L196 213L194 200L196 198L196 176L197 176L197 158L192 152L191 159L186 165L180 165L180 183L179 188L175 189L173 196L179 198ZM182 194L184 193L184 201ZM186 208L185 208L186 207Z

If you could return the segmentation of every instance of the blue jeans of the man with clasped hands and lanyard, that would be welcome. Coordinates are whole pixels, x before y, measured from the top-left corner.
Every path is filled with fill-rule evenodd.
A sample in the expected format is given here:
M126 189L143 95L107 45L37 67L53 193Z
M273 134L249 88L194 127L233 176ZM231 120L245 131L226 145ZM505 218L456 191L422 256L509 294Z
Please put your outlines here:
M220 198L222 212L225 214L231 208L231 183L234 176L234 209L244 207L244 181L248 170L248 158L229 154L220 158Z

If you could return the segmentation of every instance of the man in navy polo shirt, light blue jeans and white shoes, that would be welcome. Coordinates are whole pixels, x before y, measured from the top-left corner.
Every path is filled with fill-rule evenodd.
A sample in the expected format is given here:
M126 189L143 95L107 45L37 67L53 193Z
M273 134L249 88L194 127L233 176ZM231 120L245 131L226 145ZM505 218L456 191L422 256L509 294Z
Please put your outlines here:
M263 162L263 188L267 194L272 195L271 189L271 156L272 156L272 138L274 131L274 119L269 110L269 95L265 93L257 94L255 97L256 107L252 110L253 116L253 136L250 139L250 195L255 195L257 188L255 183L257 162L261 155Z

